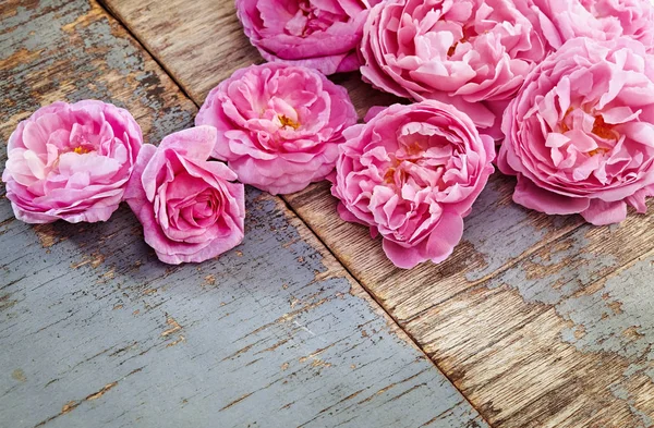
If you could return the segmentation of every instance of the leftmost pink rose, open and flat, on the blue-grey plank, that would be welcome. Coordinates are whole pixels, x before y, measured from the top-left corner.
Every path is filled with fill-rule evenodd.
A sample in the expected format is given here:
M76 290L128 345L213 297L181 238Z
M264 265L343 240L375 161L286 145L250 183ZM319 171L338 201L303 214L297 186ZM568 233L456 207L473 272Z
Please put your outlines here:
M55 102L9 137L2 181L19 220L106 221L120 204L141 127L129 111L101 101Z

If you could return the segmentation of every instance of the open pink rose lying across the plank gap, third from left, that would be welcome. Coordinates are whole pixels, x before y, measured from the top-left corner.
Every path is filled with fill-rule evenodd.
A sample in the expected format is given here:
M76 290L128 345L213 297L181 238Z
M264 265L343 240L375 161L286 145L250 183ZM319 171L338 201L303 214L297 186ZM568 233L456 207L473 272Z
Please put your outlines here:
M341 132L356 123L348 91L320 73L279 63L238 70L214 88L195 118L218 129L215 158L239 180L271 194L323 180Z

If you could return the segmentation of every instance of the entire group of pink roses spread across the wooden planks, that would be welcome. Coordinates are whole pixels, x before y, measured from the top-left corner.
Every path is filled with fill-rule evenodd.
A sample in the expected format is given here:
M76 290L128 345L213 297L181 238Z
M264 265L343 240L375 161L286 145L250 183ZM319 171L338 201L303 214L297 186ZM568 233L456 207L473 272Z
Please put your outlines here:
M243 184L288 194L328 178L340 216L411 268L460 242L496 144L528 208L608 224L654 195L649 0L235 3L272 62L238 70L158 147L111 105L38 110L9 142L16 217L104 221L125 200L162 261L202 261L243 239ZM356 124L325 74L358 69L413 103Z

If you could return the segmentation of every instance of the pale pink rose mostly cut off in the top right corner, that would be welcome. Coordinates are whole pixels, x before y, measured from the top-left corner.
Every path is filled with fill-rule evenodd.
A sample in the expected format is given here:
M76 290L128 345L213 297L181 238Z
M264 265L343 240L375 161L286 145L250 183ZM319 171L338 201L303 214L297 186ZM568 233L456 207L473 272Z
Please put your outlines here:
M554 22L559 44L574 37L611 40L629 36L654 50L654 4L650 0L533 0ZM553 41L558 48L558 45Z

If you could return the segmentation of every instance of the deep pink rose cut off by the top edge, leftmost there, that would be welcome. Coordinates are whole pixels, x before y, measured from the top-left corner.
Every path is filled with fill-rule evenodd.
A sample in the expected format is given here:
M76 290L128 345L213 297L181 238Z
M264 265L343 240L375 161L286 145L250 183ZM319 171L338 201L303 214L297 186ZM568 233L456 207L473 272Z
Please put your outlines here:
M325 74L359 68L356 46L371 5L380 0L237 0L245 35L267 61Z

